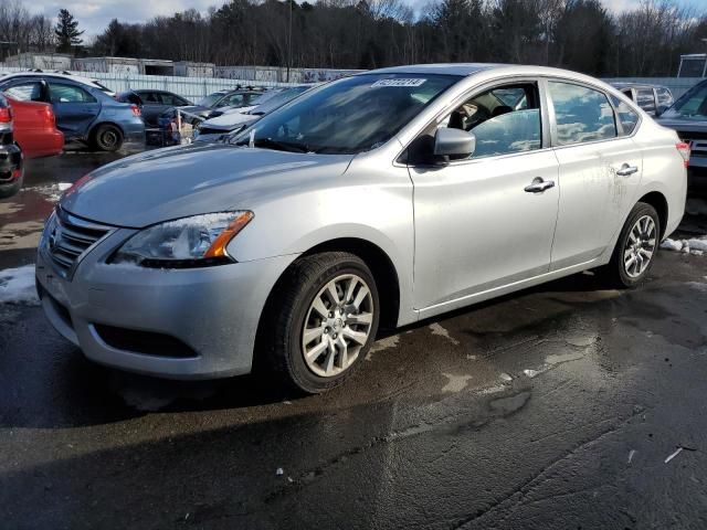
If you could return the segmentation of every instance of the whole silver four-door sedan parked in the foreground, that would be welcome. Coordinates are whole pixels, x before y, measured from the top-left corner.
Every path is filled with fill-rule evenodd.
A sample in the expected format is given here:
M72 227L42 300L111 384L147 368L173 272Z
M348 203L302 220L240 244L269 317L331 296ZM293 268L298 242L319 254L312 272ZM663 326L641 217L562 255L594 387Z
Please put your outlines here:
M689 149L611 86L536 66L400 66L310 91L226 142L105 166L39 247L49 320L166 378L268 367L305 392L394 328L595 269L642 282Z

